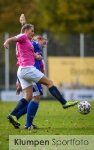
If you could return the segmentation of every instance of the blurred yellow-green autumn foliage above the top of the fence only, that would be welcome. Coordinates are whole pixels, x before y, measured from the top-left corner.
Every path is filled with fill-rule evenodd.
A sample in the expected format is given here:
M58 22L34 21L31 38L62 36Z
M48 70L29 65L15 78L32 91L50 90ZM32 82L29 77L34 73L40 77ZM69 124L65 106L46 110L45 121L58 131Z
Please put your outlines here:
M0 0L0 32L19 32L21 13L37 32L94 32L94 0Z

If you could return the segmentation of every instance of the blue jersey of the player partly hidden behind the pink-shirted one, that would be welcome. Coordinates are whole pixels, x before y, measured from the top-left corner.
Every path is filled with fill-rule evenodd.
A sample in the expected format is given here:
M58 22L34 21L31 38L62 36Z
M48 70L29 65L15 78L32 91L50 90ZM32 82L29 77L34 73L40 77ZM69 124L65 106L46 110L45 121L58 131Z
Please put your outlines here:
M32 45L34 46L34 52L35 53L39 53L40 55L42 55L42 50L41 50L41 48L40 48L40 46L39 46L39 44L38 44L38 42L35 42L35 41L31 41L31 43L32 43ZM35 60L35 67L38 69L38 70L41 70L40 69L40 64L41 64L41 60Z

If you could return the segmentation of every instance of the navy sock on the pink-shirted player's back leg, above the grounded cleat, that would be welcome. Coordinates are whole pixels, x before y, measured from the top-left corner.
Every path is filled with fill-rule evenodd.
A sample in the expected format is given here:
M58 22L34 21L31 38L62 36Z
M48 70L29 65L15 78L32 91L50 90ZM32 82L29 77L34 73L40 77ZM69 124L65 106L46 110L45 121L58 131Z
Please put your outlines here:
M22 98L19 102L18 102L18 104L17 104L17 106L14 108L14 110L11 112L11 115L14 115L14 116L16 116L16 114L19 112L19 110L20 109L22 109L25 105L27 105L28 104L28 102L24 99L24 98Z

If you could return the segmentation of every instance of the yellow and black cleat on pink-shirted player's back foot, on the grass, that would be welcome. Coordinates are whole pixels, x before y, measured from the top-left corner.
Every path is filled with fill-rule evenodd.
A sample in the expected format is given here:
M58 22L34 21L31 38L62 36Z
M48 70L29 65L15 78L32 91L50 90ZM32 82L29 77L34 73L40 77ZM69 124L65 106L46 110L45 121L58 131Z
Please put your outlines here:
M20 127L20 123L17 121L16 117L13 115L9 115L7 117L7 119L9 120L9 122L14 126L15 129L19 129Z

